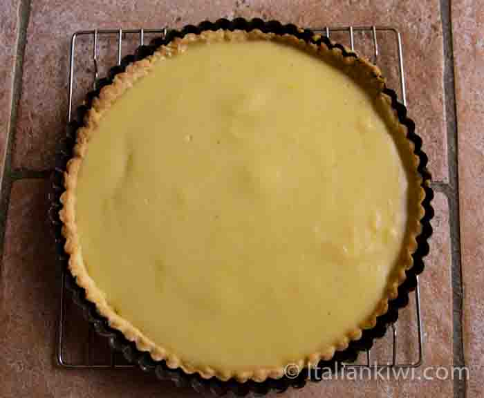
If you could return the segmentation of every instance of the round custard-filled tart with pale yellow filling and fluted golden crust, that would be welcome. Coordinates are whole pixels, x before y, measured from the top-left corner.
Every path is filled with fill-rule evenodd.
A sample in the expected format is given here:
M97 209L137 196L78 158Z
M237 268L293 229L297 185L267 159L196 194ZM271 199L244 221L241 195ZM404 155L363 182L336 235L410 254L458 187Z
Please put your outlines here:
M425 184L380 70L207 30L93 99L64 175L68 267L169 368L263 381L331 359L398 296Z

